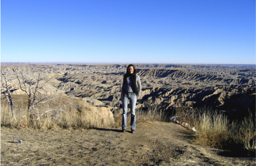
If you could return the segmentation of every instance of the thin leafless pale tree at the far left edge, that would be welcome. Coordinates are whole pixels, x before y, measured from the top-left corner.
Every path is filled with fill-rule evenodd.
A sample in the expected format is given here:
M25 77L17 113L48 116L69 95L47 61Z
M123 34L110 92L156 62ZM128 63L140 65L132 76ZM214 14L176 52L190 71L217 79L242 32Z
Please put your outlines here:
M9 85L9 82L7 81L6 78L6 72L3 70L1 70L1 95L4 96L4 98L6 98L10 109L12 111L12 117L14 118L14 120L16 120L15 116L14 116L14 104L12 101L12 93L11 93L11 86Z

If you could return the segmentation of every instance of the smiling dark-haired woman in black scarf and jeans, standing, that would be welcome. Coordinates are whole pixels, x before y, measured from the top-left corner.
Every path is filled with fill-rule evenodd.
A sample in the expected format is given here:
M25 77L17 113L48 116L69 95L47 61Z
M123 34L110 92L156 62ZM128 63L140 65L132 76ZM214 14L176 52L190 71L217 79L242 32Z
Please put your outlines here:
M131 131L135 132L136 128L136 117L135 117L135 106L136 102L140 97L141 84L140 77L136 74L136 69L133 64L129 64L124 75L121 99L123 103L123 116L122 116L122 129L123 132L126 130L126 120L127 120L127 107L128 100L130 101L131 109Z

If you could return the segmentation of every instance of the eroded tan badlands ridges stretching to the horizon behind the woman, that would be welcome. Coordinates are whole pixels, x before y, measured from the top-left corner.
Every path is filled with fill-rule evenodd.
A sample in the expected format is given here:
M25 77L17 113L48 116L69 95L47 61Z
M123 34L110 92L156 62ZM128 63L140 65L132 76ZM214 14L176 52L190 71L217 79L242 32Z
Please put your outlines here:
M52 78L45 88L91 102L95 106L120 107L124 64L36 64L5 66L14 94L22 93L17 74L39 69ZM144 109L159 104L172 112L177 107L211 108L242 115L255 112L255 65L137 64L142 84L140 100Z

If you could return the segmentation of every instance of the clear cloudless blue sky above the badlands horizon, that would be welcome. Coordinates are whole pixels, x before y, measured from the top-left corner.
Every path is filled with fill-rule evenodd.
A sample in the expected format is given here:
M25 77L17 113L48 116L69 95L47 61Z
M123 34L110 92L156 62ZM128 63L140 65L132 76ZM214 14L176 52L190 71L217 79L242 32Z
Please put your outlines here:
M255 0L1 0L1 62L255 64Z

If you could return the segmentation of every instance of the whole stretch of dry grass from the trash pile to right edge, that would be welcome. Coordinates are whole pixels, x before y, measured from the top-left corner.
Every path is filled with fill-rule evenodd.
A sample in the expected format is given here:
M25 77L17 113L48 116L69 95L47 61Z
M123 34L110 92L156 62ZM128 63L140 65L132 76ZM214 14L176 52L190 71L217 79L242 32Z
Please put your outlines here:
M252 113L242 121L232 122L222 113L206 108L179 108L176 116L180 121L195 126L195 143L216 148L242 144L244 149L255 152L255 115Z

